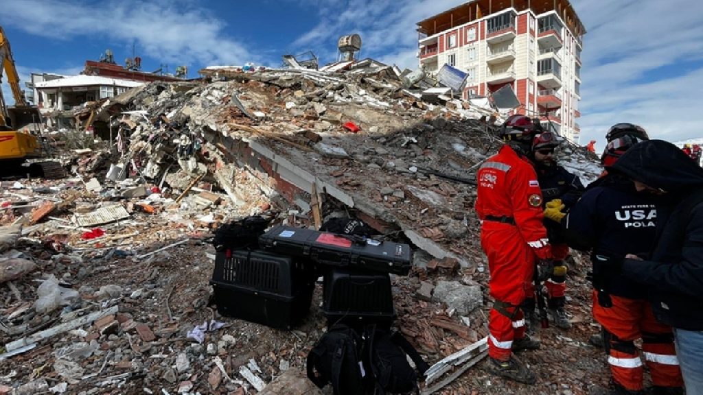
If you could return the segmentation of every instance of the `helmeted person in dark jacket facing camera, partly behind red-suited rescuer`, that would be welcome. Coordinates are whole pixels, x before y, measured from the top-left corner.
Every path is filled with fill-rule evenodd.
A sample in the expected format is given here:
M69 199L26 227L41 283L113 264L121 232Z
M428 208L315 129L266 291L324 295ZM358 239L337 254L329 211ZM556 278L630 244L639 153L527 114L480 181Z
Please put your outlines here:
M554 202L556 205L565 205L565 210L571 208L583 190L579 176L569 173L567 169L558 165L554 160L554 150L560 144L557 136L550 131L538 134L532 142L532 160L537 172L537 181L542 191L544 202ZM550 266L548 278L544 281L547 289L547 307L557 328L570 329L571 323L564 310L566 302L566 273L567 266L564 259L569 256L569 246L563 242L560 235L561 229L554 221L546 219L544 225L547 229L550 245L552 245L553 266ZM538 284L534 284L539 286ZM527 329L534 328L536 323L534 287L528 291L529 297L522 305L525 313Z

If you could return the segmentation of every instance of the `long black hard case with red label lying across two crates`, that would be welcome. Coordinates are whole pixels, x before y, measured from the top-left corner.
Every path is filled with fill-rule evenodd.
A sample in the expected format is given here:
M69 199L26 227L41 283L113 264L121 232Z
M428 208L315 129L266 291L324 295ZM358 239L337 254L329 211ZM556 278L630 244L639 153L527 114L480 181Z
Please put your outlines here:
M341 235L290 226L276 226L259 237L259 246L276 254L303 257L331 266L408 274L410 246L396 242L378 243L373 245L367 241L359 244Z

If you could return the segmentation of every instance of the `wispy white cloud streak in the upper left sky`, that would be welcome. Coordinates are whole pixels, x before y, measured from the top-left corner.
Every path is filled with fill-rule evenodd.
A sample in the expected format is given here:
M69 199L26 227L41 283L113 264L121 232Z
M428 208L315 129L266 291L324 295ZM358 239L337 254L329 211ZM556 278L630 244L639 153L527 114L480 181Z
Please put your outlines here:
M133 42L150 58L176 64L243 64L258 60L226 23L193 1L4 0L6 25L49 39L105 37Z

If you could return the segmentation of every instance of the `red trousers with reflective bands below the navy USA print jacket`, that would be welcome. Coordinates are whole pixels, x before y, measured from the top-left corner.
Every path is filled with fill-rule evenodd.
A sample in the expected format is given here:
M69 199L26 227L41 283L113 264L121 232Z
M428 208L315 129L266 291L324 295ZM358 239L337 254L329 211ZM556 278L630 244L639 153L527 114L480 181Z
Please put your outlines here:
M593 318L603 327L603 344L613 380L626 389L643 389L643 365L636 339L642 339L645 363L652 383L661 387L683 387L681 369L669 325L657 322L650 302L611 295L612 307L598 304L593 291Z

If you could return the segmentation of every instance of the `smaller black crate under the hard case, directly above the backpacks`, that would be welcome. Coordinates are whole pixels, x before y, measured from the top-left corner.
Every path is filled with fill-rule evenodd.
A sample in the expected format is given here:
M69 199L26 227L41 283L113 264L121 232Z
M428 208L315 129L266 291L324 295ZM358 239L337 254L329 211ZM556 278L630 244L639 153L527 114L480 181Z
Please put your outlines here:
M391 324L396 318L388 273L330 268L325 273L323 313L328 325Z

